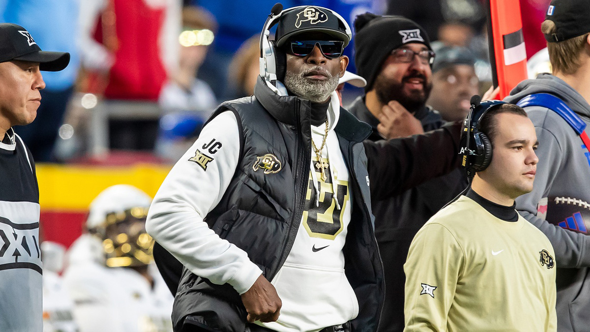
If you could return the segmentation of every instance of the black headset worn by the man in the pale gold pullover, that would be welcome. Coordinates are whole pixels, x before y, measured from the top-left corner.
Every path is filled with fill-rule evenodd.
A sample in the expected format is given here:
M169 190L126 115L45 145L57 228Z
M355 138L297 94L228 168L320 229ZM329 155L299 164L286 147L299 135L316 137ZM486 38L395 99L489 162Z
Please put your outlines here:
M480 96L471 97L471 109L464 122L461 139L461 152L463 155L463 167L467 168L467 177L471 178L475 172L485 170L491 162L492 146L486 134L480 132L480 121L484 115L496 106L505 104L502 100L484 100Z

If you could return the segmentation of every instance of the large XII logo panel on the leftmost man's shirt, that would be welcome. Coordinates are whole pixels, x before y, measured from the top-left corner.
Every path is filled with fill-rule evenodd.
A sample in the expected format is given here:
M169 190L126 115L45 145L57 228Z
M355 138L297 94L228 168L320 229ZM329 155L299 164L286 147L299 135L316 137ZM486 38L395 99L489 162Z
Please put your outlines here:
M40 274L39 223L17 224L0 217L0 270L32 269Z

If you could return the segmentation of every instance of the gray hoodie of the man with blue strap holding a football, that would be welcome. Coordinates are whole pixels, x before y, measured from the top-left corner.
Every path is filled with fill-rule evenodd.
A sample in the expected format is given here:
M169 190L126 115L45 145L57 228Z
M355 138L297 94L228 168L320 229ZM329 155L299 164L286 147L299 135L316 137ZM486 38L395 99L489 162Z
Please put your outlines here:
M539 74L534 80L520 82L507 102L517 103L533 93L550 93L563 100L576 114L590 124L590 105L563 80L551 74ZM537 174L533 191L516 199L516 209L549 238L555 249L557 271L558 331L590 330L590 227L587 232L571 231L557 226L561 220L545 220L557 209L556 197L571 197L590 202L590 159L588 149L575 131L553 110L538 106L526 108L535 125L539 148ZM590 128L590 127L588 127ZM542 198L549 205L543 211ZM540 207L537 213L537 207ZM565 207L569 213L572 207ZM577 210L584 209L578 207ZM575 212L571 210L572 214ZM590 226L590 220L587 221ZM567 226L566 226L567 227Z

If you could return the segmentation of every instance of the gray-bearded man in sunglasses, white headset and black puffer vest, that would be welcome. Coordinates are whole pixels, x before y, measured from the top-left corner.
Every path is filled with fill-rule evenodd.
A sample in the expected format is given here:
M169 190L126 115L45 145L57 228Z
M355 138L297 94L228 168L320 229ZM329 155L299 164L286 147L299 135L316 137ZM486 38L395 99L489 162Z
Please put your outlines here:
M386 314L367 163L383 191L438 176L460 126L365 149L335 92L351 35L330 9L276 5L254 96L222 103L160 187L146 229L185 266L175 331L371 332Z

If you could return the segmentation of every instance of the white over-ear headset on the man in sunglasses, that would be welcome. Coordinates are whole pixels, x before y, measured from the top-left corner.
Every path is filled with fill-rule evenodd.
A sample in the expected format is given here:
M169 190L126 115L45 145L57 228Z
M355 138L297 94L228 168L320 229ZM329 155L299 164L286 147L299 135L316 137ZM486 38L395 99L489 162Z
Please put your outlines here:
M279 19L283 14L286 12L294 11L296 9L304 9L309 6L296 6L293 8L288 8L283 11L283 5L277 3L271 9L270 15L266 19L266 23L264 23L264 28L262 33L260 34L260 77L264 80L268 87L277 93L280 96L287 96L287 89L283 85L280 80L278 80L278 73L277 71L285 70L286 64L284 63L284 57L278 56L279 51L276 49L277 45L270 41L270 29L277 24ZM340 16L332 9L314 6L319 9L323 9L329 11L331 14L335 15L345 26L346 35L348 35L349 40L352 40L352 30L350 30L350 26L348 22Z

